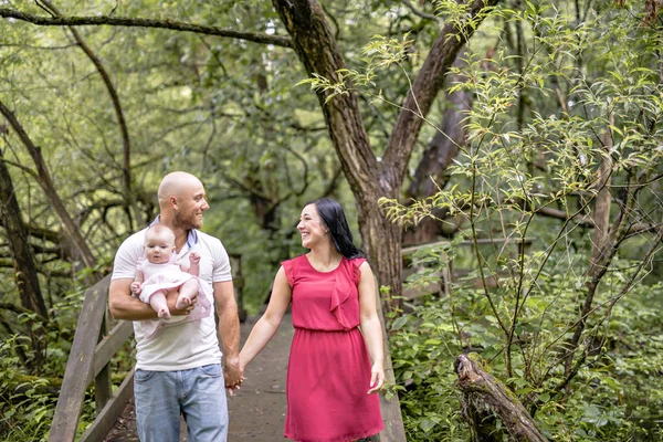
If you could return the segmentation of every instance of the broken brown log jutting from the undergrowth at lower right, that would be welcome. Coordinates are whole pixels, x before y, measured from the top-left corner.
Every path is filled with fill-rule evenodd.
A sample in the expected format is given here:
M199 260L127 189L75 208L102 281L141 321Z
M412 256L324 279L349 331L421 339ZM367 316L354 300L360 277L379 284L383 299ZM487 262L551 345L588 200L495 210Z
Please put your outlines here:
M491 433L496 430L495 427L482 425L482 419L478 419L483 414L481 410L486 407L499 417L515 441L548 441L514 393L485 372L471 356L459 356L454 369L459 376L459 388L463 392L465 418L472 427L473 442L491 441Z

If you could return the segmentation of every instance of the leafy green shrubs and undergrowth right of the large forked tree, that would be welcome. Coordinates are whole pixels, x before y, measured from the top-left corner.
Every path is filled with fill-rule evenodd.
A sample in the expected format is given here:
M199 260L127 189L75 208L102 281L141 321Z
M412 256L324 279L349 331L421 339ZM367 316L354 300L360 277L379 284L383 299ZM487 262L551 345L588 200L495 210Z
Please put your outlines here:
M450 187L382 201L403 224L443 210L463 227L412 259L412 285L449 272L453 283L392 318L409 440L464 429L452 364L466 350L551 440L661 440L662 330L651 319L663 287L643 282L661 274L661 33L618 8L590 8L582 22L550 2L497 15L522 29L523 52L505 42L486 60L475 46L454 69L465 80L450 91L473 93L474 106ZM603 186L610 231L599 235L587 220Z

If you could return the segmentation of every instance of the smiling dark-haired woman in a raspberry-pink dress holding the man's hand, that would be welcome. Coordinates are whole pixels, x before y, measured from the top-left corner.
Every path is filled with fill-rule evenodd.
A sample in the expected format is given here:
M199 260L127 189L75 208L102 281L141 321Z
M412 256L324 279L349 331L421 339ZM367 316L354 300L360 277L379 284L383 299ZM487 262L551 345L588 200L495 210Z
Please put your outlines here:
M307 203L297 230L309 252L282 263L267 309L240 352L240 367L243 371L274 336L292 302L284 435L346 442L377 434L383 424L376 393L385 368L370 265L334 200Z

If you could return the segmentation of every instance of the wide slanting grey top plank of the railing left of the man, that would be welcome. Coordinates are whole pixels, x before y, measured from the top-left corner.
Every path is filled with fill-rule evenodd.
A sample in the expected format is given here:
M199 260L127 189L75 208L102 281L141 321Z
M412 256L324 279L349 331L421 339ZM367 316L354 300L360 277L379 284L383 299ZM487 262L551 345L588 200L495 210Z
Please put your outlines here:
M85 301L78 315L74 343L70 351L62 390L57 398L49 442L74 441L81 418L85 390L90 385L94 349L106 313L110 275L85 292Z

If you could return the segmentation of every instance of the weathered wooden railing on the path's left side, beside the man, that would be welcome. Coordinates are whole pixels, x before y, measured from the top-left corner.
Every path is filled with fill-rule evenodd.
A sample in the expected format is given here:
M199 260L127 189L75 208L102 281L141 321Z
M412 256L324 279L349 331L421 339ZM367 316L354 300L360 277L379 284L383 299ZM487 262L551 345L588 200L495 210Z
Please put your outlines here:
M231 255L230 260L233 269L235 299L240 314L245 316L241 260L239 255ZM131 322L120 320L108 333L109 285L110 275L85 292L76 334L49 432L49 442L73 442L75 440L85 391L93 381L97 411L92 425L78 439L81 442L103 441L134 396L134 369L127 373L115 392L110 382L109 362L117 350L131 337L134 327Z

